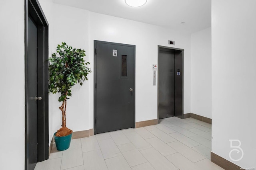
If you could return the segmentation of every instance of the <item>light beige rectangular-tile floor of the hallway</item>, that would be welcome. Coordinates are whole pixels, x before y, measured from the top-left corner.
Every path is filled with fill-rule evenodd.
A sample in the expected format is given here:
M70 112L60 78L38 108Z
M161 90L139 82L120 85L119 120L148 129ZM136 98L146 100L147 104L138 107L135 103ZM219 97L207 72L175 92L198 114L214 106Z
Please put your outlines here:
M35 170L223 170L210 161L211 125L168 117L160 124L71 141Z

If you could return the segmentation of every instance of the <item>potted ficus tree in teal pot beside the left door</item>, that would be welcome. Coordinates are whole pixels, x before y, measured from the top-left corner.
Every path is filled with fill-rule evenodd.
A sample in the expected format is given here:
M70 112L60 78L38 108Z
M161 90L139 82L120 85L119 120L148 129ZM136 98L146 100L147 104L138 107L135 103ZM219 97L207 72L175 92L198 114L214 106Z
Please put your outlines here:
M81 86L87 75L91 72L87 66L89 62L84 60L83 49L73 49L71 46L62 43L58 45L56 53L52 54L49 60L49 92L60 93L58 99L62 102L59 109L62 111L62 127L54 133L54 139L58 150L66 150L70 146L72 130L66 127L66 107L68 97L71 96L71 89L76 83Z

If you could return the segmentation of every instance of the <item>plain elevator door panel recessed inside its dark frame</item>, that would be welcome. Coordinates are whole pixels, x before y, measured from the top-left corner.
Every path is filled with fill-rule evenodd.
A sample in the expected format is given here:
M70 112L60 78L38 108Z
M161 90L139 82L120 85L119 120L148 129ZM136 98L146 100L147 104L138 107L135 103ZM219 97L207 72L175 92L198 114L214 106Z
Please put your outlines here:
M158 58L159 72L159 119L174 116L175 105L175 53L174 51L160 51Z

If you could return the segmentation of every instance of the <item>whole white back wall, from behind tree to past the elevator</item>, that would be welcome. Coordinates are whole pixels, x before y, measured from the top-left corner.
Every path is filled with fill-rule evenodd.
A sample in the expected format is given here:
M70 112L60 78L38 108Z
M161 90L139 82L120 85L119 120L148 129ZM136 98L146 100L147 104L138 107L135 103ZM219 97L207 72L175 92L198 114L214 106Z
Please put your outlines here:
M157 64L157 45L169 46L168 39L176 41L174 47L184 49L184 113L190 113L190 35L59 4L53 4L52 13L49 24L54 33L50 37L50 54L58 43L65 41L86 50L92 70L94 40L136 45L136 122L157 119L157 86L152 85L152 64ZM82 87L73 88L67 108L67 126L73 131L93 128L93 88L93 73ZM58 95L50 96L50 140L61 125L57 101Z

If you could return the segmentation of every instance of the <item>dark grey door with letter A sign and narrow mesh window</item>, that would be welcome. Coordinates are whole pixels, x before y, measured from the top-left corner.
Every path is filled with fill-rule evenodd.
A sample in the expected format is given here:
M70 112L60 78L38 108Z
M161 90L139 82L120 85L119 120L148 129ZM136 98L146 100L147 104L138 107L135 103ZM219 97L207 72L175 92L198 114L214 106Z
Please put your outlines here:
M135 127L135 46L94 41L94 47L96 133Z

